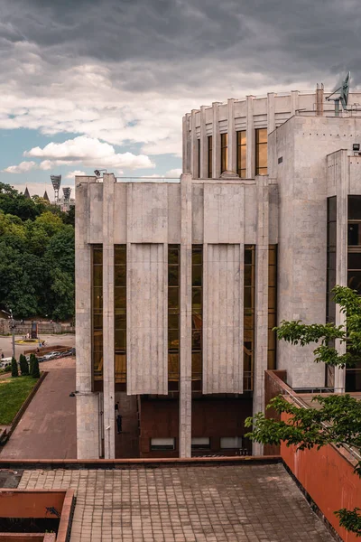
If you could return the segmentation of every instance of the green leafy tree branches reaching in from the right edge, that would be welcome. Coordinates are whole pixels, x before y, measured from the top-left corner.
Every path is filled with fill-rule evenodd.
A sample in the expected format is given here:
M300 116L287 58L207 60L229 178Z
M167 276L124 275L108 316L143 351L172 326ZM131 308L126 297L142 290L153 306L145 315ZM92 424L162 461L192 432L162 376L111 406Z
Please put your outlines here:
M334 300L345 314L345 325L304 324L301 321L281 322L277 330L280 340L301 346L316 342L315 361L333 367L354 367L361 360L361 298L355 291L344 286L333 289ZM339 353L333 340L347 343L347 352ZM267 418L264 413L247 418L246 427L253 427L248 437L262 444L296 445L297 449L319 449L326 444L337 447L348 445L361 452L361 401L348 394L317 396L318 407L299 408L283 397L274 397L270 405L281 415L290 415L287 421ZM361 461L357 463L356 475L361 477ZM361 509L340 509L335 512L341 527L361 537Z

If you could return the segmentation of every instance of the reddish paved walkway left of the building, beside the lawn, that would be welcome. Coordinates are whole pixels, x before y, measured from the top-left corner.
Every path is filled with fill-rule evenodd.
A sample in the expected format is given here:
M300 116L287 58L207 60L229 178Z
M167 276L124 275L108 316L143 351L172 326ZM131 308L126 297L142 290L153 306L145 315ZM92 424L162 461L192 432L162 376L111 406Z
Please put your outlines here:
M76 459L75 360L64 358L40 364L49 371L9 442L1 459Z

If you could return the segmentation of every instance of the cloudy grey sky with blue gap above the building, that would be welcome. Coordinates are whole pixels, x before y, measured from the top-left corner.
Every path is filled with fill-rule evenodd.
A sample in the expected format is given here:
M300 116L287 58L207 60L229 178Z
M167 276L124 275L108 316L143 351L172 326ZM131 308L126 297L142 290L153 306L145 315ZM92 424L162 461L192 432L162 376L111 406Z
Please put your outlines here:
M361 83L358 0L0 0L0 182L178 175L212 101Z

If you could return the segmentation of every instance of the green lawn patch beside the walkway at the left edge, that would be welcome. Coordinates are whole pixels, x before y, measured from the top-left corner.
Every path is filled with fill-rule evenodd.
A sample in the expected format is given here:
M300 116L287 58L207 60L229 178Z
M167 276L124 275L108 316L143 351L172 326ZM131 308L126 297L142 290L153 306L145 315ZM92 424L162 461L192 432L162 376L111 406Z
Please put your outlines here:
M37 381L37 378L32 377L0 380L0 425L12 423Z

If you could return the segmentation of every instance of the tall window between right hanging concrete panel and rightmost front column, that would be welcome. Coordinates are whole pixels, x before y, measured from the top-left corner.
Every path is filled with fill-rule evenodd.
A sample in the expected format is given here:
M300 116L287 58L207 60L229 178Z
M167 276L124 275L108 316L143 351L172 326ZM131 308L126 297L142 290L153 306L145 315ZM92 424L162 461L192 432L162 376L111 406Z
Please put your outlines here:
M255 245L245 245L244 390L254 388L255 359Z

